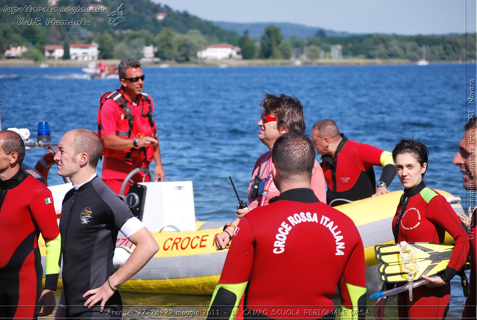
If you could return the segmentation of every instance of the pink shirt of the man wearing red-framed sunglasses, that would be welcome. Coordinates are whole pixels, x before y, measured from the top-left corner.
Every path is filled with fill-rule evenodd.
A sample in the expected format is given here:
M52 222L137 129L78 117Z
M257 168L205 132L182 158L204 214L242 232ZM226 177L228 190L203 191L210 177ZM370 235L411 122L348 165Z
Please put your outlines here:
M270 161L268 161L270 159ZM267 151L263 155L260 155L259 158L257 159L257 162L255 163L255 166L253 167L252 171L252 178L250 179L250 184L249 184L249 191L248 194L250 194L250 188L252 187L252 181L255 175L257 175L257 172L259 170L259 164L261 165L260 168L260 179L266 179L271 172L271 152ZM313 174L311 175L311 189L315 193L315 196L323 202L326 203L326 190L325 190L325 177L323 175L323 170L321 170L321 166L318 165L318 162L315 160L315 167L317 169ZM275 186L275 183L273 182L273 177L271 177L272 182L270 184L270 188L268 190L268 195L267 199L265 201L265 205L268 205L269 200L275 196L280 195L280 191L277 189ZM249 209L254 209L257 206L259 206L259 198L250 198L249 197Z

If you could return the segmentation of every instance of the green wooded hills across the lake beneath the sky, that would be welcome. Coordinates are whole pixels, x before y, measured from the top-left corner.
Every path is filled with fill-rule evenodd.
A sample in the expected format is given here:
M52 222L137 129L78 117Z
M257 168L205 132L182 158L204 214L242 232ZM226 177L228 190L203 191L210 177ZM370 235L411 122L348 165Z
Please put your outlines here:
M61 12L62 6L76 8L101 4L104 12ZM370 59L408 59L417 61L422 57L422 47L426 48L429 61L458 61L475 59L475 34L436 36L436 35L352 35L318 30L310 36L296 34L290 40L284 37L278 26L263 27L260 41L245 31L239 35L236 31L225 30L213 22L204 21L187 11L173 10L167 5L153 3L150 0L124 0L124 18L127 23L115 28L109 25L109 17L117 11L118 2L114 0L59 0L57 12L10 12L1 13L0 52L10 45L25 45L30 48L23 57L41 60L43 46L46 44L90 43L99 44L102 59L142 57L142 48L153 44L157 47L156 56L163 60L190 62L197 59L197 51L213 43L227 42L242 48L244 59L271 58L289 59L291 57L318 59L330 57L332 46L342 45L343 58ZM0 0L0 10L9 7L48 7L47 0ZM157 20L156 14L166 14L164 20ZM17 19L33 20L40 18L43 25L18 25ZM47 18L58 20L91 21L89 25L45 25ZM224 25L225 26L225 25ZM288 28L288 27L287 27ZM286 33L290 36L290 30ZM298 29L296 29L298 30ZM254 31L257 32L257 31ZM297 31L299 32L299 31ZM467 41L467 42L466 42ZM2 55L0 55L0 58Z

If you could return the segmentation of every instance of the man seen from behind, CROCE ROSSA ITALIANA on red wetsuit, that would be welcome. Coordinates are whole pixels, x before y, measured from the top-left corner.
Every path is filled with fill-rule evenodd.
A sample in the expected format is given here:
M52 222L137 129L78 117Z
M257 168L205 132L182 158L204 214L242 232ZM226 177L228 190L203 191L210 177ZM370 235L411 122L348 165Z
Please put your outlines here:
M364 319L363 243L353 221L311 190L310 138L282 135L272 159L280 196L242 217L207 318L234 319L244 291L245 319L334 318L338 286L339 314Z

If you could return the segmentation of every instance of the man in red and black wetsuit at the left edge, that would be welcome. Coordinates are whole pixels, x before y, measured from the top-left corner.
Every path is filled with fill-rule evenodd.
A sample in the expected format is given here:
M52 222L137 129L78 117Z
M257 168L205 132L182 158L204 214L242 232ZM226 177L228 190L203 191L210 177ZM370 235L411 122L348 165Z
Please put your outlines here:
M60 273L61 239L52 193L21 169L24 157L25 145L20 135L0 131L1 319L48 316L56 305L54 291ZM43 292L40 233L46 246Z

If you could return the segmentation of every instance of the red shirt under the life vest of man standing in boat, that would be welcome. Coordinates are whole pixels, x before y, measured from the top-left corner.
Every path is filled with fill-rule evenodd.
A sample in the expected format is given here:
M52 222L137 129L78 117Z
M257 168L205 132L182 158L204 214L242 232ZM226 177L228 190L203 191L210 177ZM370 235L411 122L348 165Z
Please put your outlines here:
M134 106L128 102L127 105L132 109L136 109L141 113L143 106L142 100ZM151 100L151 107L153 103ZM153 109L154 110L154 109ZM120 108L113 99L108 99L103 104L101 109L101 140L108 135L116 135L116 128L119 119L123 115L123 109ZM103 171L101 172L102 179L124 179L126 175L135 168L146 167L149 168L149 163L145 160L137 162L126 162L124 160L114 159L111 157L103 157Z

